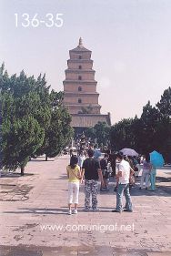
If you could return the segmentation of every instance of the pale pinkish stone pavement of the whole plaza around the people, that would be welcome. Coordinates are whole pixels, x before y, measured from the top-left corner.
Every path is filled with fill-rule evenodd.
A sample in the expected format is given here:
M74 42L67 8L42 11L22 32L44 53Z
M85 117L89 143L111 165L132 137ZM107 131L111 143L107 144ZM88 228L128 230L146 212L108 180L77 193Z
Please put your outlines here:
M156 192L132 189L134 212L112 213L114 182L99 212L67 215L68 156L29 162L25 176L0 178L0 256L171 255L171 170L158 170Z

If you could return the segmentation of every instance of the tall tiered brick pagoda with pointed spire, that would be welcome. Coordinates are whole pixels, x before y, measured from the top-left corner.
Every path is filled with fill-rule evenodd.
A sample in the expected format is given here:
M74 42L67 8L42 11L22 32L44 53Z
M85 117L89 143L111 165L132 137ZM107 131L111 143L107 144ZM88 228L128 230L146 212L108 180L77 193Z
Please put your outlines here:
M80 38L78 46L69 51L68 68L65 70L64 104L72 116L71 125L76 134L82 133L85 128L94 127L98 122L111 125L110 113L100 113L91 53Z

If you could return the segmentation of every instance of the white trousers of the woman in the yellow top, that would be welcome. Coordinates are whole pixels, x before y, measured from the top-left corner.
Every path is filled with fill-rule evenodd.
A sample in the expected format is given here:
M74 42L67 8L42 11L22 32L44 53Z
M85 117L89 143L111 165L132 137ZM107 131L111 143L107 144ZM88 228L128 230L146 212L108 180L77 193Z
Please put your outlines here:
M68 182L68 203L78 204L79 182Z

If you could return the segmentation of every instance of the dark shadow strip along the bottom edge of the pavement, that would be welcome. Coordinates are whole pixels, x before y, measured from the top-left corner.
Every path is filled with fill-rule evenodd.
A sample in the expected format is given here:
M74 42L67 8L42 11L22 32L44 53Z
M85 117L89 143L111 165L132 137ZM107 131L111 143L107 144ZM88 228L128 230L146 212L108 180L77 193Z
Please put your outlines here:
M1 256L71 256L71 255L86 255L86 256L169 256L170 251L151 251L151 249L127 249L117 248L111 246L58 246L58 247L45 247L45 246L0 246Z

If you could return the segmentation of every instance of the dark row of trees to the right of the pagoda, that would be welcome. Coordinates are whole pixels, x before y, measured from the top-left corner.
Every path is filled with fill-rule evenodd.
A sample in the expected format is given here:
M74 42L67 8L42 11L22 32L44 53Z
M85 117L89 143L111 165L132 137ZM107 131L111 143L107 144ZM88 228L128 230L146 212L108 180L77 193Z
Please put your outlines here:
M98 126L99 130L96 127L86 129L86 137L97 138L99 143L103 140L106 144L109 134L114 151L134 148L139 154L146 154L157 150L171 162L171 87L164 91L156 107L148 101L140 118L125 118L111 128Z

